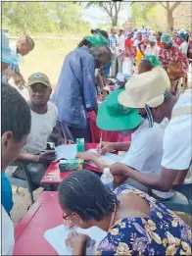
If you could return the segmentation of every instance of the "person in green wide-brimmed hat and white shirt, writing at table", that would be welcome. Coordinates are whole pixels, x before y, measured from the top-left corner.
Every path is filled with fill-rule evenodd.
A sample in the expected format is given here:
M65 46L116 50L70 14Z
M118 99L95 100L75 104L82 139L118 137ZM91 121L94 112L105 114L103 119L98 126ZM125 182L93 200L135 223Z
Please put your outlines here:
M155 123L151 132L152 128L149 128L148 120L140 117L136 109L123 107L119 103L119 95L123 90L113 91L101 104L98 109L96 124L98 128L116 130L124 136L131 134L131 142L103 141L101 149L98 145L98 154L82 152L78 153L76 157L93 162L103 171L106 164L101 160L100 154L114 150L125 151L126 154L121 164L142 173L158 174L161 170L164 129ZM145 186L133 179L128 179L128 184L147 191Z

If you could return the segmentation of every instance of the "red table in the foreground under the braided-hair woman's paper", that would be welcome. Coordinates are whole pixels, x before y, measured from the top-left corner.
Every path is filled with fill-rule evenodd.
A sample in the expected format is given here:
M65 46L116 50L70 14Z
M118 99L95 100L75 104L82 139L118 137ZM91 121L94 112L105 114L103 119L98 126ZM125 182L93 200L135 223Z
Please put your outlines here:
M13 255L58 255L43 234L62 223L57 192L43 192L15 229Z

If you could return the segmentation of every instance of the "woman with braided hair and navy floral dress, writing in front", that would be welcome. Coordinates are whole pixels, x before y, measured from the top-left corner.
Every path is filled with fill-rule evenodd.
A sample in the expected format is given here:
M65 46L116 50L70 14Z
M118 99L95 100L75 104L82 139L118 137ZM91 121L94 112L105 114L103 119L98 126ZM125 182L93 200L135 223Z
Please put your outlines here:
M89 171L72 173L59 186L64 219L81 229L107 232L96 255L191 255L191 230L166 206L125 184L114 192ZM89 237L71 233L72 255L85 255Z

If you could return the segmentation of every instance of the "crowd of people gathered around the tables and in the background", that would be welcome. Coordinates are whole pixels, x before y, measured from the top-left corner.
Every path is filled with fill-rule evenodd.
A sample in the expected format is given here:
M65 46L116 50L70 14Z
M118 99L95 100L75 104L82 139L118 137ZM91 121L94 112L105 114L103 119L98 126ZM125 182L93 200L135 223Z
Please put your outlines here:
M56 156L55 150L45 151L47 141L61 145L83 137L91 142L90 111L98 128L131 134L131 141L103 141L98 154L76 155L103 171L109 165L101 154L125 152L120 163L109 167L114 191L90 171L76 171L61 182L63 218L81 229L97 226L107 232L96 255L191 255L191 229L160 202L174 196L174 186L183 183L192 161L192 91L186 86L192 48L186 31L171 32L145 27L112 27L110 34L91 30L66 56L53 93L47 75L36 72L25 81L20 73L21 55L34 49L33 39L20 37L11 46L2 33L3 255L11 255L14 248L7 167L15 160L23 162L32 183L40 186ZM106 85L115 86L112 77L117 74L124 77L122 86L106 93ZM9 84L11 77L16 86L26 86L27 102ZM184 89L178 95L180 80ZM106 97L100 107L97 94ZM18 168L13 176L25 179L24 170ZM88 240L71 233L66 243L72 255L85 255Z

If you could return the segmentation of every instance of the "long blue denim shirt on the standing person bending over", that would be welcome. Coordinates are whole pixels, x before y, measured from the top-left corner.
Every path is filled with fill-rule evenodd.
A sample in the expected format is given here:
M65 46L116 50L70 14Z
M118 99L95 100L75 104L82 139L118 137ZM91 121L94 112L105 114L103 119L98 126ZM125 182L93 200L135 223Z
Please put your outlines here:
M95 58L86 47L69 53L51 101L58 107L58 121L86 128L87 109L97 106Z

